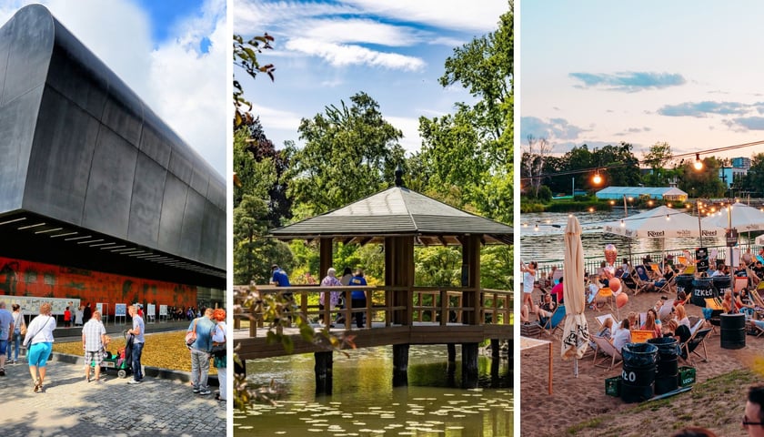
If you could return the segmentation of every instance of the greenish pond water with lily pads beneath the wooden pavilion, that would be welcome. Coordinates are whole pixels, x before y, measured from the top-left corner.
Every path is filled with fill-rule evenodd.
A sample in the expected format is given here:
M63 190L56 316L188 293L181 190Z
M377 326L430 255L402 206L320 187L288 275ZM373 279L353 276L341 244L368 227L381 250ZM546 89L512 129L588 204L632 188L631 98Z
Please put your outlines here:
M491 361L480 356L480 387L457 388L449 377L446 346L412 346L408 386L392 387L392 348L334 355L331 395L316 396L313 354L247 361L247 379L256 385L276 381L283 395L276 405L234 412L236 435L305 436L414 435L503 437L513 435L514 393L508 361L491 378Z

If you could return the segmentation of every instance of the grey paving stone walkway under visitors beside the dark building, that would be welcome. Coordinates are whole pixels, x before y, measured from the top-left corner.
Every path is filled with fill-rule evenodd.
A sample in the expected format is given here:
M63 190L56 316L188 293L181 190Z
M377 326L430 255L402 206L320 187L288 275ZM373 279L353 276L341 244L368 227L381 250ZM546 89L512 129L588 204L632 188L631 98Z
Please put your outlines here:
M0 377L2 435L205 436L226 435L226 402L193 394L188 383L146 376L129 385L110 371L86 382L82 364L48 361L45 391L35 393L25 361ZM102 373L103 377L103 373Z

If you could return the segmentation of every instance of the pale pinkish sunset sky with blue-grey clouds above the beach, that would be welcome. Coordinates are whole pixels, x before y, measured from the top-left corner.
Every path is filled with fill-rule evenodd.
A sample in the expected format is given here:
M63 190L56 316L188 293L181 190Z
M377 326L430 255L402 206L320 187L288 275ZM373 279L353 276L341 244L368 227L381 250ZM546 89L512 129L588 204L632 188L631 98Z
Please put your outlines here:
M675 154L759 141L762 16L755 0L522 2L523 147L528 135L546 137L558 154L624 141L642 158L663 141Z

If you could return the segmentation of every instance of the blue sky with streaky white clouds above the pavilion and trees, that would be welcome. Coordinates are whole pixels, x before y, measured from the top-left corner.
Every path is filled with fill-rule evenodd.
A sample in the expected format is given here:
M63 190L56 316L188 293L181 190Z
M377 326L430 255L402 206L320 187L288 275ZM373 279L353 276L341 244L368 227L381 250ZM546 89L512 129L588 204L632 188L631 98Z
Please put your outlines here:
M472 101L461 86L437 83L446 58L495 31L508 10L508 0L236 0L234 33L276 38L274 50L258 56L260 64L276 65L276 80L234 74L276 147L285 140L301 145L300 119L364 91L413 152L421 146L419 117L454 113L456 102Z

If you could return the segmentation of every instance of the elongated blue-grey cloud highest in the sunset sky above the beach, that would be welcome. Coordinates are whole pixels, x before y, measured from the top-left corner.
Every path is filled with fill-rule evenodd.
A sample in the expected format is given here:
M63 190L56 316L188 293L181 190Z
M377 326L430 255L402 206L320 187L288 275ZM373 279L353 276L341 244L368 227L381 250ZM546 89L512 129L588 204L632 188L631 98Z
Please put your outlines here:
M626 71L614 74L570 73L568 76L583 82L577 88L600 87L607 91L636 93L648 89L681 86L687 81L679 74Z

